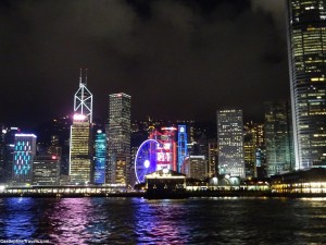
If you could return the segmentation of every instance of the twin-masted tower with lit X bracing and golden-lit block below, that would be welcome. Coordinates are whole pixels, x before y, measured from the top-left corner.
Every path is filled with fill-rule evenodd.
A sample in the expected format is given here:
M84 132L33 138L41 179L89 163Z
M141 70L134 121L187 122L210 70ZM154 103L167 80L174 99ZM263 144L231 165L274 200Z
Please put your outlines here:
M72 184L92 182L91 123L92 94L87 88L87 73L85 82L83 82L80 70L79 88L74 96L74 118L70 140L70 177Z

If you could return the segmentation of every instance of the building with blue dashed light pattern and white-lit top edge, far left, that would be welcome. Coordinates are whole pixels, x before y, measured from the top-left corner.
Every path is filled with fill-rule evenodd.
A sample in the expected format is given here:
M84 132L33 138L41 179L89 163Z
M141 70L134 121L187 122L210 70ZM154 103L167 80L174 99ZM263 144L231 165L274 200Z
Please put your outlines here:
M36 135L15 134L12 184L32 184Z

